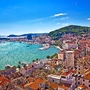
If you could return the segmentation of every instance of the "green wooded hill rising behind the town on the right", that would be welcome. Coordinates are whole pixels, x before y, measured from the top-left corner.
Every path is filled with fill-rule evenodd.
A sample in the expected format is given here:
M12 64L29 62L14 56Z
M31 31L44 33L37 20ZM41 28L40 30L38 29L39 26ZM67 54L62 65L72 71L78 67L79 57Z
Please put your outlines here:
M70 25L51 31L48 35L51 36L53 39L58 40L64 33L81 35L81 34L86 34L88 32L90 32L90 27Z

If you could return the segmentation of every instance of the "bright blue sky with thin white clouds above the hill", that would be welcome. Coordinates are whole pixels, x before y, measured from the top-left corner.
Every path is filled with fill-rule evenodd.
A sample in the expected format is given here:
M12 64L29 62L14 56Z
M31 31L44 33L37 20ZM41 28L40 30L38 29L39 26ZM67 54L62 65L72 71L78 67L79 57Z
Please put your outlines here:
M90 27L90 0L0 0L0 35Z

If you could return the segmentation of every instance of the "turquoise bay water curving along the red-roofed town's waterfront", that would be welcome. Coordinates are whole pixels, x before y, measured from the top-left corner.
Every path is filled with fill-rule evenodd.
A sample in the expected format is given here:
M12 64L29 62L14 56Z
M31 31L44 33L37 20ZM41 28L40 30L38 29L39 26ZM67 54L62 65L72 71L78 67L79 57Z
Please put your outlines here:
M5 69L6 64L18 65L18 62L30 63L39 58L45 59L47 55L59 52L54 46L47 50L39 50L40 44L27 44L19 42L0 43L0 70Z

